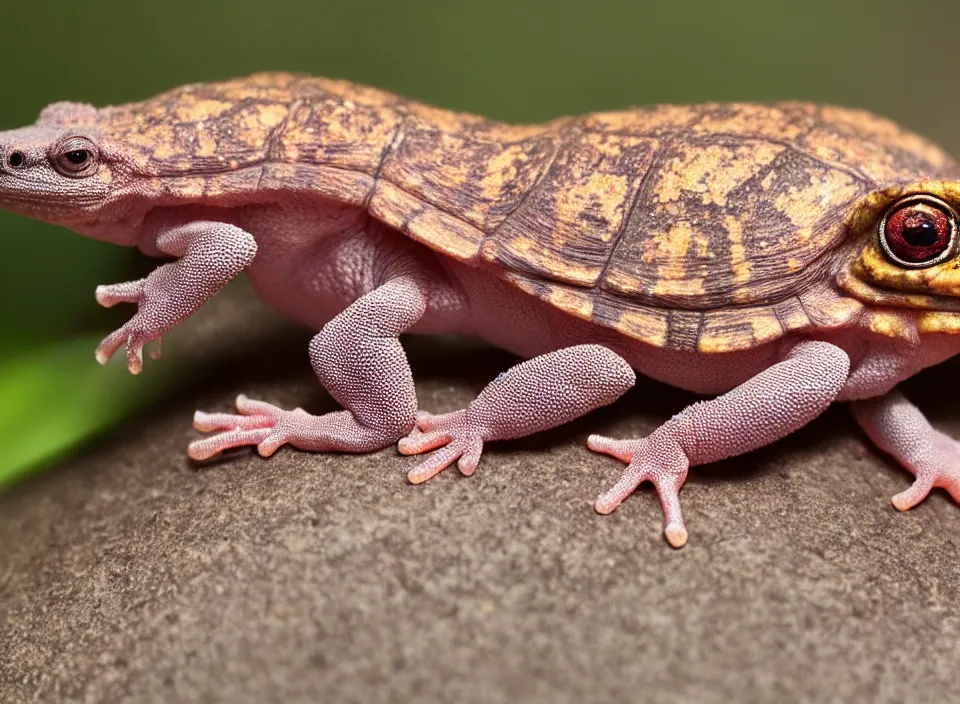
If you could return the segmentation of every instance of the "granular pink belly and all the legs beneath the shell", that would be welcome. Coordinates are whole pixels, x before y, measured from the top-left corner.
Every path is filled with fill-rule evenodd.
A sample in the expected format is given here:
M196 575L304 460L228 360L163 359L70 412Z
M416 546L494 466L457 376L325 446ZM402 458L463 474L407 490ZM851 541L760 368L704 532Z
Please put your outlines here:
M162 254L160 243L169 254L188 256L180 260L183 276L168 274L159 288L154 286L157 298L175 293L175 305L153 305L161 315L151 312L151 301L140 301L140 313L131 321L137 331L128 351L132 370L138 368L144 342L188 317L246 262L270 305L320 330L310 359L321 383L346 409L317 417L241 396L238 414L196 414L196 427L213 434L191 444L194 459L243 445L255 445L268 456L284 444L366 452L399 441L404 454L435 451L410 471L412 482L457 461L460 471L471 475L484 442L552 428L612 403L633 385L636 370L691 391L722 394L694 404L646 438L591 436L588 442L628 465L616 485L600 495L597 510L609 513L641 482L651 481L664 508L665 535L675 547L687 540L678 495L689 467L774 442L833 401L872 399L855 404L855 417L917 476L912 489L895 497L897 508L915 505L933 486L945 486L957 497L960 445L930 428L897 392L889 393L903 379L960 351L960 339L951 336L928 336L909 345L849 328L788 337L744 352L667 351L573 318L495 272L444 258L360 209L328 201L159 209L137 230L148 254ZM196 251L183 233L194 233ZM130 230L123 234L130 237ZM177 252L170 249L171 238ZM206 254L204 242L215 244L212 250L205 245ZM175 291L177 280L207 284ZM130 301L143 287L104 287L98 298ZM110 298L108 290L128 295ZM179 312L171 316L172 310ZM418 408L397 340L404 332L474 335L528 361L491 382L466 409L431 416ZM116 333L108 338L100 358L109 357L124 339ZM911 452L910 442L936 451Z

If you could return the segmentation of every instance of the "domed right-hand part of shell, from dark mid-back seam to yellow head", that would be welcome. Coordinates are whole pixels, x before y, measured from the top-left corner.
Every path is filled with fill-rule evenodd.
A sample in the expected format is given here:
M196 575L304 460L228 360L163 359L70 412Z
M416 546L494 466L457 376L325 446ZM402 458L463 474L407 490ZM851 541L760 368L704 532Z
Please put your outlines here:
M716 353L850 324L864 304L825 255L858 204L948 174L938 148L860 111L663 106L514 134L410 126L371 212L574 316Z

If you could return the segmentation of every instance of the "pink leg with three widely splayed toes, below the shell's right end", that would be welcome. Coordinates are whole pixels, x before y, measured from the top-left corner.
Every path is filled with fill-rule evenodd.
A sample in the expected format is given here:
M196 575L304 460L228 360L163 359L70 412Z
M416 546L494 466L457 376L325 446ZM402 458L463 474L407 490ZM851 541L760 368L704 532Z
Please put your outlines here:
M673 547L687 542L680 489L687 470L768 445L819 416L843 388L850 360L839 347L804 341L782 361L737 388L689 406L645 438L614 440L592 435L591 450L627 463L620 480L597 499L610 513L645 481L663 507L664 534Z

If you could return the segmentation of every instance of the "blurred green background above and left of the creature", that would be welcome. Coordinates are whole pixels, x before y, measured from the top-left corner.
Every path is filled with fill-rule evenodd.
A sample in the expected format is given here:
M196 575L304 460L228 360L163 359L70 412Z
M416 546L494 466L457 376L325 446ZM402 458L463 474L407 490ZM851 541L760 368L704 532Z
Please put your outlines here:
M955 0L37 0L4 2L0 27L0 129L55 100L118 103L283 69L511 121L657 102L841 103L960 155ZM123 319L98 308L94 287L145 267L0 214L0 485L162 395L163 362L132 378L93 359Z

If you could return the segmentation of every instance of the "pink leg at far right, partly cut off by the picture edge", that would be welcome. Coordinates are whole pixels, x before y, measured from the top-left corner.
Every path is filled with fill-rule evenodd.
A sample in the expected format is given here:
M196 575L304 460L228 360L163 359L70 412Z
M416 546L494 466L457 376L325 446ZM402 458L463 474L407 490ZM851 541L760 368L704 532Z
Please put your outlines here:
M850 404L853 417L871 440L893 455L916 480L893 497L900 511L913 508L934 487L960 503L960 443L930 425L899 391Z

